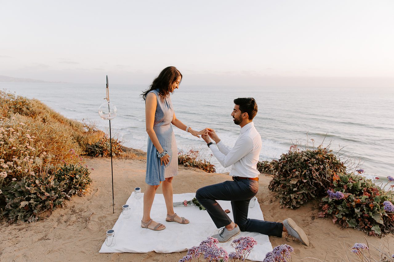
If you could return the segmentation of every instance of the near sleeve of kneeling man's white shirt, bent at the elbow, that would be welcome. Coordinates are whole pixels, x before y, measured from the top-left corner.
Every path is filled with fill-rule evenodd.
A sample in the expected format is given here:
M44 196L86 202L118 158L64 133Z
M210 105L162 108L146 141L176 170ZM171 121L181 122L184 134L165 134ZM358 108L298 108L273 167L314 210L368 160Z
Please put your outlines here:
M214 145L210 145L209 148L212 150L212 154L216 157L217 161L223 167L227 168L247 155L253 149L253 142L250 137L243 137L235 143L227 155L219 151Z

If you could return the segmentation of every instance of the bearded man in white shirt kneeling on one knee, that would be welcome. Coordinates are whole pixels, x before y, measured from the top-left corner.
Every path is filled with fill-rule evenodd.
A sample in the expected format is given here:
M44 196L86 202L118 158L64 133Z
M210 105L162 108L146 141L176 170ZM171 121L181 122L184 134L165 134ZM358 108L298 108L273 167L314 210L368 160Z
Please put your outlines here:
M309 245L305 232L288 218L282 223L248 219L249 201L257 194L257 162L261 151L261 137L253 123L257 113L257 104L253 98L234 100L231 113L234 124L240 125L240 135L233 148L221 142L213 129L207 128L208 135L203 139L217 161L224 166L231 166L232 181L204 186L196 192L197 200L203 205L217 228L223 227L219 234L212 237L219 242L227 242L240 231L258 232L269 236L282 237L282 232L297 238L304 245ZM216 145L212 140L216 142ZM232 221L216 200L231 201L234 221Z

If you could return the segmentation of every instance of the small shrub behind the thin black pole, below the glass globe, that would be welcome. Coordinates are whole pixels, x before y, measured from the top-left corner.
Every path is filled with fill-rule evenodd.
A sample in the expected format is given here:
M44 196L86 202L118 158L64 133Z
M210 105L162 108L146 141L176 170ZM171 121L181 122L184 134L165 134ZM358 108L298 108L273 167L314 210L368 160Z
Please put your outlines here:
M122 144L115 138L112 138L112 156L121 155L123 153ZM111 144L110 138L107 136L102 137L98 142L86 146L86 154L91 157L110 157Z

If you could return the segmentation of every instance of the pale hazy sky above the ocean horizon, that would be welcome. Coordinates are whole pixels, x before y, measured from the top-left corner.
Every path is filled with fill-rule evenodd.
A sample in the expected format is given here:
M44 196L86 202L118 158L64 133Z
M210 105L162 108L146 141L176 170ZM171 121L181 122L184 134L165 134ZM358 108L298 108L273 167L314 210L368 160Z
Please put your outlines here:
M0 75L394 87L394 1L0 0Z

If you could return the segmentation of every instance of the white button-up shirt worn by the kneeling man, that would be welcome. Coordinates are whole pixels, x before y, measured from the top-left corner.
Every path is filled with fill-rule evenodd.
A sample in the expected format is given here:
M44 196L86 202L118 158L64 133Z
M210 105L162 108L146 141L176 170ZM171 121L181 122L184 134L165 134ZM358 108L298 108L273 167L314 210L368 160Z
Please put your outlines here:
M257 162L261 151L261 136L253 121L241 128L233 148L229 148L221 140L217 147L212 144L209 148L222 166L231 166L231 176L258 177L260 174Z

